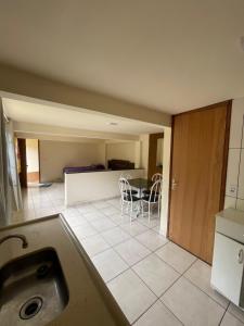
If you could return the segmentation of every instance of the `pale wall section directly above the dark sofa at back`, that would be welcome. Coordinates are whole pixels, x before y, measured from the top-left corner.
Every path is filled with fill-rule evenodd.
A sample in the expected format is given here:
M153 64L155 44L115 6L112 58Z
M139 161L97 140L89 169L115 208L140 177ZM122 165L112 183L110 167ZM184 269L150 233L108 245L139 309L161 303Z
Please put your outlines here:
M136 161L136 142L108 142L106 143L106 159Z

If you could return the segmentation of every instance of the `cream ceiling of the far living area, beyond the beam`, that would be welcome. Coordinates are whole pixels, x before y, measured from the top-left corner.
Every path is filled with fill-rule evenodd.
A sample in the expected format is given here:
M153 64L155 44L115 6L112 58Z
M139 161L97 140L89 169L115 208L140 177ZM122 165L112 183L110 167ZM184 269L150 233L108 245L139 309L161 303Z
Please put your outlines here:
M3 99L3 108L7 116L16 122L126 135L153 134L163 130L163 127L153 124L88 110L75 111L12 99Z

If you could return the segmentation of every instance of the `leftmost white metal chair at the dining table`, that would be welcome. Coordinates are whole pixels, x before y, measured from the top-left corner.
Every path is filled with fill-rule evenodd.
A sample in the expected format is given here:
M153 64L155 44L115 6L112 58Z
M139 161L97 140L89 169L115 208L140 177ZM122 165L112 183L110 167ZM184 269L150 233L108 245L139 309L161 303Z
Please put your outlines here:
M120 190L120 204L121 204L121 216L124 215L124 205L127 205L127 214L130 216L130 222L132 221L133 208L137 204L137 211L139 212L140 208L140 198L132 195L132 189L129 181L126 178L119 178L119 190ZM130 212L130 213L129 213Z

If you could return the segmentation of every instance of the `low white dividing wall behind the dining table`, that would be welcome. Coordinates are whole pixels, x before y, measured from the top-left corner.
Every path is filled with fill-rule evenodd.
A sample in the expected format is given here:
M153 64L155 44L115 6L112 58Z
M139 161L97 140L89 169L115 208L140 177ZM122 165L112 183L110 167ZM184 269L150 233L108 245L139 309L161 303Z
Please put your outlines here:
M142 177L144 170L102 171L65 174L65 205L119 196L118 179L121 174Z

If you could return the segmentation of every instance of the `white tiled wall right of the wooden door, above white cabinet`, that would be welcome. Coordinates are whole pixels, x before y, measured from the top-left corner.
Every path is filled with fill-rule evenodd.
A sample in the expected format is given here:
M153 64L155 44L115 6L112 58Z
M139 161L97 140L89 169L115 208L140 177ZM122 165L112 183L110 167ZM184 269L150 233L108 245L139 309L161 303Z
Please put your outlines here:
M233 100L224 208L244 211L244 98Z

